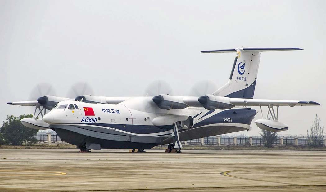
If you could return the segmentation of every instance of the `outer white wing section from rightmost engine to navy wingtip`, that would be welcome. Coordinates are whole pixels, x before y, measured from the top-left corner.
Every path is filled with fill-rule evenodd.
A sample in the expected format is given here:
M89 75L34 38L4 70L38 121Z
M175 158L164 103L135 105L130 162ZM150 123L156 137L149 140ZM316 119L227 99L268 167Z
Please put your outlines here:
M279 105L279 106L304 106L304 105L320 105L313 101L292 101L292 100L271 100L271 99L239 99L230 98L230 103L235 106L268 106Z

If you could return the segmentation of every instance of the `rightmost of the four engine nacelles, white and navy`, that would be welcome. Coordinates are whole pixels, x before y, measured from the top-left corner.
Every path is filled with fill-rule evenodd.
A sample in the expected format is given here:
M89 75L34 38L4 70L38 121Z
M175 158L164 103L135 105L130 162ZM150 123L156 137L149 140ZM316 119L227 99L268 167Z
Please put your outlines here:
M198 102L202 104L205 109L231 109L234 107L230 103L230 98L220 97L216 95L204 95L198 98Z

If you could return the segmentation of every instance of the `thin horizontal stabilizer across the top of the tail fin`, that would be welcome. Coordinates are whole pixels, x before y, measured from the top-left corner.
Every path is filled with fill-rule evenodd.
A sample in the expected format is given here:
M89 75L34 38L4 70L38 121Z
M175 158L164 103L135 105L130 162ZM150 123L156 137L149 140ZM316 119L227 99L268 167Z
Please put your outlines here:
M264 51L291 51L291 50L304 50L301 48L249 48L249 47L240 47L237 49L219 49L212 51L200 51L202 53L234 53L240 49L246 52L264 52Z

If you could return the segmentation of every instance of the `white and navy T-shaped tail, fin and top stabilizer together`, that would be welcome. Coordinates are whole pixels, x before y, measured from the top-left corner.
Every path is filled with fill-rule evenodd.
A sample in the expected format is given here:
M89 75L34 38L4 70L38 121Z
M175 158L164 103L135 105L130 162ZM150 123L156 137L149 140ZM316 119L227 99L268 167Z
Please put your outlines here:
M202 53L236 52L229 81L212 94L217 96L222 96L222 97L252 99L254 97L255 86L257 81L260 52L288 51L288 50L303 50L303 49L239 47L236 49L201 51Z

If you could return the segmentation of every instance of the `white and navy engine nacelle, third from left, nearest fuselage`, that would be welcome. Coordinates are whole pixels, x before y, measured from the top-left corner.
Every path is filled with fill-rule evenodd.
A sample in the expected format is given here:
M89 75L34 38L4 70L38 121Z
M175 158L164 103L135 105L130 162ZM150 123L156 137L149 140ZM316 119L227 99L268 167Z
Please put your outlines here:
M153 97L153 102L161 109L184 109L188 107L183 101L183 97L171 95L157 95Z

